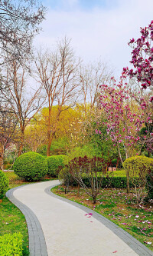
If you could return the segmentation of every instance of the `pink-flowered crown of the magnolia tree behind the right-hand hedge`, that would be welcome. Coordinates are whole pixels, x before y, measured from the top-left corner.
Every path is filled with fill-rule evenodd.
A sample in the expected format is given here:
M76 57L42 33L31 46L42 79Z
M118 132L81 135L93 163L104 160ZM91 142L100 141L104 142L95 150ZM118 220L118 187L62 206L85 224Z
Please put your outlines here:
M139 111L133 112L131 101L129 100L130 91L127 89L125 76L120 78L119 84L112 78L112 85L101 85L100 104L106 113L107 134L116 144L131 147L140 140L138 131L141 130L144 121L144 110L147 104L142 99ZM148 120L150 121L148 115ZM98 131L96 131L98 133Z

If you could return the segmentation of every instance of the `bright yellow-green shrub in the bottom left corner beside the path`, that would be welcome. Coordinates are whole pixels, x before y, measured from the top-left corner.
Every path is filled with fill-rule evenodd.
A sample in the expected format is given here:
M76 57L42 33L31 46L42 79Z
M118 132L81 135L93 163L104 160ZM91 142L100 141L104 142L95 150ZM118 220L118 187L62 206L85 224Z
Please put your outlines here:
M1 256L22 256L22 234L4 234L0 237Z

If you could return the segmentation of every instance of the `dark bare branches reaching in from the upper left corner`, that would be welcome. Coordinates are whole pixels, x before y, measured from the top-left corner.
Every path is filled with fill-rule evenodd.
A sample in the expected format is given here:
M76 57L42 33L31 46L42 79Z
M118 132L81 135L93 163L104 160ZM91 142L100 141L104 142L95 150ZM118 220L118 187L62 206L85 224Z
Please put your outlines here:
M30 52L31 42L40 30L46 8L37 0L0 2L0 48L10 59L20 60ZM0 65L9 62L1 56Z

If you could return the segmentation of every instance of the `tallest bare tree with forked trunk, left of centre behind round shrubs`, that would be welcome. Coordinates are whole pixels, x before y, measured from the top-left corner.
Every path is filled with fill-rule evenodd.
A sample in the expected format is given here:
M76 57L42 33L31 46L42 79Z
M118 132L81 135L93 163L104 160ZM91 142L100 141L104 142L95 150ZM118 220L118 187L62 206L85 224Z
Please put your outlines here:
M72 105L78 93L78 66L74 58L70 41L64 38L57 44L56 52L39 52L35 62L38 81L47 95L47 156L50 155L50 145L57 130L60 114ZM51 128L51 114L54 105L58 105L56 122ZM67 105L67 108L62 108Z

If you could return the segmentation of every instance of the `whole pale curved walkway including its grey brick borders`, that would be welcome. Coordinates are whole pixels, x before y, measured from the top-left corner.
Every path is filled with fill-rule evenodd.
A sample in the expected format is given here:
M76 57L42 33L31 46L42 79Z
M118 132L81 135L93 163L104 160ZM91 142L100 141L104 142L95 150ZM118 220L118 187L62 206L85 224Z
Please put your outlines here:
M51 193L58 184L45 181L6 194L25 215L31 256L153 255L112 221Z

